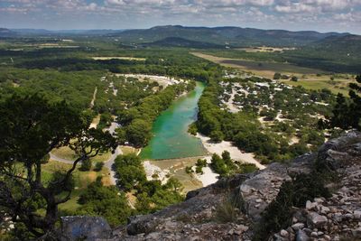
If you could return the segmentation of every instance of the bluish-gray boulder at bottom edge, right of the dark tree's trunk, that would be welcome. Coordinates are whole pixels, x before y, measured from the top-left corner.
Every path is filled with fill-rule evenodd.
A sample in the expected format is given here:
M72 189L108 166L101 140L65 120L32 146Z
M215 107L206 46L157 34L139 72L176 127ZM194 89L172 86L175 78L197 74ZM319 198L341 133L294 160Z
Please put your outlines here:
M61 239L70 240L97 240L108 238L112 229L106 219L101 217L68 216L61 218Z

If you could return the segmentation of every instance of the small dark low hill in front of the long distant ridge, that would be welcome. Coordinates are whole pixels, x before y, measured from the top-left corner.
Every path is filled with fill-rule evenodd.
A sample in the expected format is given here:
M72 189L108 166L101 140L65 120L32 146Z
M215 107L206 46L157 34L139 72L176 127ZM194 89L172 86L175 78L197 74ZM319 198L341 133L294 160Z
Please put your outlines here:
M187 48L195 48L195 49L219 49L225 48L224 45L219 45L216 43L210 42L199 42L199 41L191 41L186 40L179 37L168 37L162 39L160 41L149 42L143 44L145 46L162 46L162 47L187 47Z

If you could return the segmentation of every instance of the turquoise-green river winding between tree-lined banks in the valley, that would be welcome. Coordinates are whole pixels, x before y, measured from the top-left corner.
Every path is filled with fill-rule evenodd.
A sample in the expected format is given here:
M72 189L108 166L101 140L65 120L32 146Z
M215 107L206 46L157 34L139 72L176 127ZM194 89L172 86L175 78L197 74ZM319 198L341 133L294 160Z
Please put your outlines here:
M197 82L194 90L176 99L153 124L153 138L143 149L143 159L173 159L200 156L206 153L199 138L188 133L189 125L197 119L198 101L205 85Z

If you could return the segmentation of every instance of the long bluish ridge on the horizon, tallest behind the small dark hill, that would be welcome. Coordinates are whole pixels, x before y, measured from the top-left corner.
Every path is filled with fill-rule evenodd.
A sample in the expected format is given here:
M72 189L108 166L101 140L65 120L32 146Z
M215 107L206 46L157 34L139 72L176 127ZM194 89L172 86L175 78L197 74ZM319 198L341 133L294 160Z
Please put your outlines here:
M124 42L157 42L176 37L196 42L210 42L231 46L300 46L317 42L330 36L345 36L338 32L291 32L285 30L260 30L240 27L184 27L180 25L156 26L143 30L127 30L111 34Z

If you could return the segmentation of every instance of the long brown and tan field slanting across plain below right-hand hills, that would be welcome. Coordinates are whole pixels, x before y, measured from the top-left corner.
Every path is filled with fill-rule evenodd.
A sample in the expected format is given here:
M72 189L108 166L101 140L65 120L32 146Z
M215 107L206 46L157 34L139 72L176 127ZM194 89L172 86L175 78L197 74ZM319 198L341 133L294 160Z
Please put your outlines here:
M191 52L191 54L203 58L205 60L210 60L216 62L222 66L236 68L238 70L253 72L255 75L273 79L274 72L281 72L282 74L317 74L324 72L322 70L315 70L309 68L303 68L295 66L289 63L277 63L277 62L261 62L254 60L238 60L238 59L229 59L229 58L220 58L213 55L208 55L199 52Z

